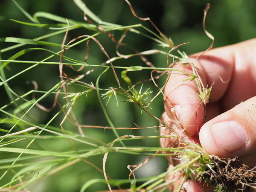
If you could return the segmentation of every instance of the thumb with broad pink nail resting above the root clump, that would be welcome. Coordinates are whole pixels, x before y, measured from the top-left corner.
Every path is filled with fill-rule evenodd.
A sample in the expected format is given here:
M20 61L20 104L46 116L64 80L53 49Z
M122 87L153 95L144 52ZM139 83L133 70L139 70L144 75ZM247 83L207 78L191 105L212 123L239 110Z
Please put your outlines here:
M206 122L199 139L207 152L218 157L256 154L256 96Z

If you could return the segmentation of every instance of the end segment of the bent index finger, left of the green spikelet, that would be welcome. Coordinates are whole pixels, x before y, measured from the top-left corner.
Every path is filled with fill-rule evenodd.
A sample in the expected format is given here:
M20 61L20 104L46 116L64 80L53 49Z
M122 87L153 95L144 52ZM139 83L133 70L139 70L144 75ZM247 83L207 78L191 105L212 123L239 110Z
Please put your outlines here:
M189 66L183 67L183 71L192 73ZM183 81L188 76L173 74L166 84L166 99L175 107L175 113L183 125L183 128L191 135L198 134L199 128L204 123L204 106L198 96L195 81ZM172 118L172 106L165 102L165 110Z

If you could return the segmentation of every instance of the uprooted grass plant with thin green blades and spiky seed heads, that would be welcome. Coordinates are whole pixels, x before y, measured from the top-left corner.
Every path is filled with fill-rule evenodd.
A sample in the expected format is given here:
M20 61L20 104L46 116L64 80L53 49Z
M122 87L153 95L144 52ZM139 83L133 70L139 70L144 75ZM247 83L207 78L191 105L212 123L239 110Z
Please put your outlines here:
M40 29L45 28L49 33L35 39L0 38L0 43L5 46L0 50L0 89L8 96L8 100L0 107L0 190L26 191L33 183L40 183L44 178L57 175L58 172L63 172L70 167L76 166L76 164L79 164L79 169L84 172L92 167L94 172L102 174L100 178L84 180L83 184L78 186L81 192L99 184L108 186L110 191L124 188L129 188L127 190L134 192L166 191L177 182L179 182L179 185L175 190L180 191L183 183L188 179L196 179L202 183L210 180L217 186L217 190L227 190L221 183L222 181L216 179L219 175L214 176L211 172L211 170L214 172L217 169L221 169L216 164L220 159L209 155L197 144L184 142L173 131L173 128L155 116L154 110L151 109L151 103L154 103L155 98L161 97L164 88L160 88L156 84L156 80L162 78L164 79L163 81L166 81L166 77L168 79L171 73L185 74L188 76L187 81L196 81L199 96L204 105L207 105L211 87L204 87L201 84L196 68L192 65L193 73L173 69L174 64L190 64L186 53L179 50L175 55L171 53L171 51L175 52L174 50L179 47L179 49L182 49L181 45L175 46L172 40L160 32L149 18L137 16L128 0L125 0L125 2L131 9L131 13L138 18L138 21L151 22L151 29L137 23L122 26L105 22L90 11L81 0L74 0L74 3L84 14L83 22L70 18L66 19L47 12L36 12L34 15L30 15L15 0L12 1L17 6L17 9L28 18L25 21L13 18L12 22ZM49 20L49 23L41 23L41 18L44 18L44 21ZM71 31L79 30L83 31L84 35L79 37L67 36ZM118 39L112 35L112 32L116 31L122 34ZM139 51L136 47L123 43L125 36L130 33L140 35L145 38L145 41L156 42L159 44L159 49L148 50L145 48L145 50ZM58 35L61 35L62 42L48 41L49 38L54 39ZM107 48L105 49L101 42L98 41L98 37L102 38L102 35L109 42L116 45L114 50L116 55L110 56ZM9 43L14 45L8 46ZM102 54L105 55L105 61L98 64L90 63L89 49L91 44L98 46ZM66 52L81 45L86 45L84 59L70 58ZM132 50L132 53L125 55L120 53L120 46ZM6 53L9 52L14 52L14 54L6 57ZM40 54L40 52L47 52L49 56L34 61L29 59L32 54L36 55ZM153 54L165 55L167 64L155 67L146 58L147 55ZM140 58L140 62L136 66L116 65L117 61L132 57ZM169 58L172 58L172 64L169 64ZM17 73L10 73L12 71L10 69L14 68L15 65L24 65L25 67ZM40 85L44 84L44 82L31 80L28 83L33 84L34 88L22 94L20 92L17 93L9 85L12 84L14 79L19 79L20 76L29 74L38 67L47 68L48 66L55 66L58 69L56 81L52 82L52 87L49 90L40 89ZM6 70L9 70L8 76L6 76ZM148 79L143 81L133 82L131 74L137 73L139 76L140 72L145 70L151 72L151 78L149 76ZM94 73L96 73L94 75L96 78L88 80L87 76ZM153 73L157 73L157 75L153 76ZM102 78L106 75L108 75L108 78L112 76L116 83L111 83L109 86L108 82L102 83ZM106 122L104 126L84 125L81 124L81 118L77 118L77 113L79 112L76 110L76 105L81 105L81 98L90 99L91 95L98 98L99 109L101 108L103 111L101 118L105 119ZM112 119L113 114L111 114L110 108L106 105L113 98L117 102L115 104L117 108L120 102L126 102L129 106L134 106L142 115L150 116L159 126L116 127ZM47 108L41 104L45 101L51 102L52 107ZM87 104L89 103L90 101L87 102ZM85 105L84 108L87 108L87 106ZM45 111L44 113L47 114L48 119L46 123L41 123L34 118L33 111L36 110ZM150 129L158 130L163 126L171 130L173 134L159 136L156 131L153 135L143 136L139 132L141 129L144 131ZM111 129L113 134L108 132L108 134L112 134L111 139L106 141L96 134L93 136L87 134L87 130L96 128L100 128L102 133ZM133 134L126 134L126 132L131 133L131 131L133 131ZM113 135L115 138L113 138ZM183 145L176 148L143 145L148 143L148 140L170 137L177 138ZM138 146L132 145L135 140L141 140L142 144ZM55 145L59 141L67 146L65 150L59 150ZM47 143L47 145L42 143ZM127 179L119 179L108 175L108 170L111 169L108 167L108 154L118 154L116 158L122 154L134 156L133 158L143 155L145 160L138 165L125 165L129 171ZM102 158L100 167L90 161L93 156ZM179 158L181 163L159 175L137 178L137 169L140 169L141 166L157 156L173 156L174 158ZM223 162L226 161L223 160ZM225 167L225 165L224 163L222 166ZM230 165L226 166L226 168L233 169ZM115 169L118 168L115 167ZM253 169L247 169L248 172L253 173ZM180 177L172 180L168 179L171 175L177 174ZM247 189L247 186L255 187L255 175L247 175L246 179L239 181L238 186L240 189Z

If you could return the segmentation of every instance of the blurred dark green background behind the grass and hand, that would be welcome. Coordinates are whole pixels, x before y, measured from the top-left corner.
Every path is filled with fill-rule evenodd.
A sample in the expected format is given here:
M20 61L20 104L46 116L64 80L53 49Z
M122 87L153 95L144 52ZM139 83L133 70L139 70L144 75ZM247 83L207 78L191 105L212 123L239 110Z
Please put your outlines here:
M67 17L77 21L84 21L83 15L78 8L72 3L71 0L17 0L17 2L28 11L31 15L35 12L43 11L53 13L55 15L60 15L62 17ZM147 21L143 22L138 20L131 14L128 5L124 0L84 0L88 8L91 9L96 15L98 15L102 20L106 22L116 23L123 26L132 25L137 23L143 23L149 29L154 30L151 24ZM159 29L167 36L172 38L175 45L182 44L184 42L190 42L180 48L180 50L185 51L187 55L195 52L200 52L209 47L211 40L205 35L202 20L203 20L203 10L207 3L211 3L211 8L209 9L207 15L206 27L207 30L215 37L214 47L221 47L228 44L234 44L240 41L245 41L250 38L254 38L256 35L256 1L255 0L130 0L131 4L139 17L150 17L151 20L159 27ZM10 19L17 19L21 21L30 22L12 3L11 0L0 0L0 38L2 37L19 37L19 38L37 38L41 35L45 35L49 32L53 32L49 29L37 28L33 26L23 26L21 24L10 21ZM40 19L41 23L54 23L46 19ZM143 31L143 29L140 29ZM145 31L143 31L145 32ZM67 41L79 36L79 35L91 35L93 32L87 31L86 29L79 28L77 30L70 31L67 36ZM122 32L113 32L115 37L119 39ZM45 41L51 41L61 44L63 35L53 36L47 38ZM105 35L99 35L97 39L105 47L106 51L110 57L116 56L115 44ZM159 47L155 42L137 35L134 33L128 33L124 40L125 43L130 44L139 51L145 51L149 49L163 49ZM0 49L8 47L12 43L0 44ZM29 47L29 46L26 46ZM22 48L24 49L24 47ZM59 47L51 48L53 51L59 51ZM3 59L7 59L15 52L20 49L15 49L9 52L3 53L1 56ZM169 51L168 48L163 49L166 52ZM123 54L133 53L129 49L121 48L120 52ZM33 52L32 54L23 56L20 59L40 61L46 58L49 54L47 52ZM83 60L85 55L85 44L81 44L67 51L65 54L70 58ZM147 56L148 60L151 61L157 67L166 67L166 56L165 55L150 55ZM105 62L107 58L100 51L94 42L90 42L90 53L88 64L101 64ZM58 58L53 58L49 61L57 61ZM143 65L145 64L139 58L130 58L115 61L116 66L132 66L132 65ZM29 64L9 64L9 68L5 70L6 77L10 77L13 74L28 67ZM77 75L72 70L64 68L65 72L69 76ZM84 72L83 70L82 72ZM79 74L82 74L79 73ZM83 79L83 81L95 84L97 76L102 72L98 70L91 73L89 76ZM117 70L120 76L121 70ZM130 72L129 76L133 82L141 81L150 78L150 71L139 71ZM49 90L59 81L58 66L55 65L40 65L33 70L19 76L18 78L9 81L9 86L19 95L28 92L33 89L32 84L26 84L26 81L35 80L38 82L39 90ZM163 85L165 82L165 77L157 80L159 85ZM122 84L124 82L122 81ZM100 81L100 87L117 87L115 79L111 70L108 71L104 76L102 76ZM154 93L157 93L157 88L151 83L145 83L144 88L151 87ZM83 87L70 87L70 92L81 91ZM38 94L40 95L40 94ZM152 97L152 96L151 96ZM52 105L54 96L50 96L41 102L42 105L50 107ZM9 103L9 98L5 93L5 90L0 87L0 99L1 106ZM105 100L106 102L106 100ZM160 117L163 112L163 99L159 96L151 105L151 112ZM116 127L134 127L134 123L140 126L156 126L157 121L152 119L150 116L143 113L141 115L140 109L126 102L120 102L119 107L116 108L116 101L111 99L107 105L108 111L113 119L114 125ZM10 109L11 111L11 109ZM58 109L55 109L51 113L46 113L34 108L30 116L32 116L36 121L40 123L46 123L56 113ZM82 125L102 125L109 126L96 99L96 93L91 93L87 97L81 97L76 104L74 111L76 117ZM0 114L0 117L5 117ZM58 126L61 122L60 116L52 125ZM4 126L4 125L1 125ZM5 125L7 126L7 125ZM64 127L68 130L76 129L73 125L66 123ZM102 129L84 129L86 135L90 137L95 137L97 139L103 140L105 142L111 142L115 139L113 131L102 130ZM131 134L131 135L157 135L157 130L146 129L146 130L125 130L118 131L119 135ZM37 149L41 146L48 150L64 151L70 150L66 140L54 140L49 144L48 140L39 140L37 144L33 145L32 148ZM127 145L132 146L159 146L159 141L155 140L138 140L127 142ZM16 146L18 147L18 146ZM80 146L76 146L79 148ZM5 157L7 154L1 153L0 158ZM88 160L95 163L97 166L102 168L102 157L90 157ZM107 161L107 173L112 178L126 179L128 178L129 171L126 166L128 164L138 164L141 163L145 157L143 156L131 156L125 154L110 154ZM138 177L148 177L152 175L160 174L164 172L167 168L167 161L164 157L155 158L145 165L137 174ZM0 171L2 174L3 171ZM12 175L9 174L5 177L5 182ZM97 172L95 168L87 165L85 163L78 163L67 169L62 170L54 175L45 177L38 182L32 184L28 187L31 191L36 192L75 192L79 191L80 187L88 180L93 178L104 178L100 172ZM129 187L127 185L126 187ZM95 184L91 186L88 191L96 190L107 190L106 184Z

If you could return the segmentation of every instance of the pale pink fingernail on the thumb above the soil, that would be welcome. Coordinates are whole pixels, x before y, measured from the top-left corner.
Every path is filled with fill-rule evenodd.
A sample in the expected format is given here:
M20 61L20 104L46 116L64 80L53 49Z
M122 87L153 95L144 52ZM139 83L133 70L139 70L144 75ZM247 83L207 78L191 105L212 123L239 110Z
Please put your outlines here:
M247 143L244 128L233 121L223 121L211 126L212 138L227 151L236 151Z

